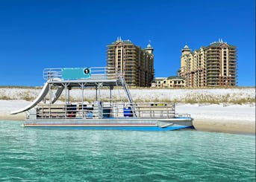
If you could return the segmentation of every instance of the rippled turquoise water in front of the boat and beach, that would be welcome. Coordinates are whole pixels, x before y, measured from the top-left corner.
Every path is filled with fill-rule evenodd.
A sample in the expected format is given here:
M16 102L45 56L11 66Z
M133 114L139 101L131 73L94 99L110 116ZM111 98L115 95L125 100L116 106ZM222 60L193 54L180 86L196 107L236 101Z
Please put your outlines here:
M0 181L255 181L255 136L0 121Z

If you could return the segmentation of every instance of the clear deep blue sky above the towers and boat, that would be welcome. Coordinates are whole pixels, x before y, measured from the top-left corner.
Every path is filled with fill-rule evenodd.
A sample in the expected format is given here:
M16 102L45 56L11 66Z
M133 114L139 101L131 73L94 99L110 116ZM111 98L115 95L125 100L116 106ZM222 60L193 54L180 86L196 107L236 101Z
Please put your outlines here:
M105 66L117 36L154 48L155 77L181 49L223 39L238 50L238 85L255 86L254 0L0 1L0 85L43 85L43 68Z

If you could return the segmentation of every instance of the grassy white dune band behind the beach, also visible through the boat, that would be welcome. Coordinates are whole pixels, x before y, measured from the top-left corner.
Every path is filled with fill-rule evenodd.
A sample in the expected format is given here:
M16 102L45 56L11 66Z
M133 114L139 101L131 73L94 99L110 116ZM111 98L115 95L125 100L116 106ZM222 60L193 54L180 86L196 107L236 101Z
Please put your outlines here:
M33 101L40 93L41 88L1 88L0 100L27 100ZM53 91L53 93L55 90ZM101 92L100 98L104 102L110 101L108 89ZM131 89L135 103L187 103L187 104L255 104L254 88L231 88L231 89ZM47 96L49 97L49 95ZM65 102L65 93L60 95L58 99ZM81 102L81 92L79 89L72 89L70 93L70 102ZM84 102L93 103L96 100L95 90L88 89L84 92ZM111 100L113 102L128 102L123 91L113 89Z

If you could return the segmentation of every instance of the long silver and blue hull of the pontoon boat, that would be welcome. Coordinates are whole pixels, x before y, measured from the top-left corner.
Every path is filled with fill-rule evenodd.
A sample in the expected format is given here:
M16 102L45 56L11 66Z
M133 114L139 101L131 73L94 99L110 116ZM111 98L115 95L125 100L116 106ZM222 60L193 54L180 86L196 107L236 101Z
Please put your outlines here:
M152 119L92 119L92 120L27 120L23 126L40 129L93 129L93 130L130 130L130 131L172 131L193 128L192 120L172 118Z

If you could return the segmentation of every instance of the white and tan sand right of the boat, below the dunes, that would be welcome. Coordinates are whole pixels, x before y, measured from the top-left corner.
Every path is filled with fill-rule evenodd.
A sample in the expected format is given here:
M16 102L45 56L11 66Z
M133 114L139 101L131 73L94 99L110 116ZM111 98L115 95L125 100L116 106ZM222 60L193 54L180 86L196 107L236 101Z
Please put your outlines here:
M197 130L255 134L255 105L176 105L176 111L191 114Z

